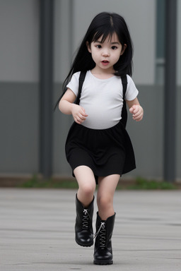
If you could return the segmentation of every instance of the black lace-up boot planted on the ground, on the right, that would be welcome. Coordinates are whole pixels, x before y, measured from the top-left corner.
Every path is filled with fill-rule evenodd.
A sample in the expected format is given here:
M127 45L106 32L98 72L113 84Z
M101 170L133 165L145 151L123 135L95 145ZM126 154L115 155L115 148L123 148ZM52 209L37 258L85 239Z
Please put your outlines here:
M115 215L108 217L107 220L101 220L97 212L96 220L96 239L94 248L95 265L112 265L112 231L115 224ZM95 234L95 235L96 235Z

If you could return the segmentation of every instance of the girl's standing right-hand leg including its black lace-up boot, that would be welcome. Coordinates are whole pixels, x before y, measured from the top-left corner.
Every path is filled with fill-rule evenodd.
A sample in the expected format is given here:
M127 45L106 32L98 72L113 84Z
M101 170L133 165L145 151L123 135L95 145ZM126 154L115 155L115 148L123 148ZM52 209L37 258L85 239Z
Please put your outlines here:
M119 181L119 175L114 174L98 179L98 213L94 247L95 265L112 265L112 231L115 224L113 197Z

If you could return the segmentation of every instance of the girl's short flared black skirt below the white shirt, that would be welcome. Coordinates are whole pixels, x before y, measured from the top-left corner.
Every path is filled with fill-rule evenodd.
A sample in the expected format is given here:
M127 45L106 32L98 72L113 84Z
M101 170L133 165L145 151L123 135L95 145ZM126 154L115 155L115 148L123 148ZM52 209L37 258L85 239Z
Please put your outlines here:
M122 176L136 168L132 142L121 121L102 130L74 122L66 138L65 150L72 175L76 167L87 166L93 170L96 183L98 176Z

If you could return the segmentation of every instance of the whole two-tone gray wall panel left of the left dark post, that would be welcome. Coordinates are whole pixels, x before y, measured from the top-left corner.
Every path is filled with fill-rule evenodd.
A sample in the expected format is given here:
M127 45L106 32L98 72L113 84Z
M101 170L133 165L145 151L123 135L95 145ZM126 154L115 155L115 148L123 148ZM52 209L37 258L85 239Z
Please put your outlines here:
M33 174L39 153L39 4L0 1L0 173Z

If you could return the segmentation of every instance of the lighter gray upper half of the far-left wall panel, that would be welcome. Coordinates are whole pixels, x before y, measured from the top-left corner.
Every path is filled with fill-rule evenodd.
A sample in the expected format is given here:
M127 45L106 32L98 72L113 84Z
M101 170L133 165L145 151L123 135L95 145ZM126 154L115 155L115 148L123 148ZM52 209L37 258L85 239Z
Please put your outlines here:
M0 80L38 82L38 1L1 0L0 12Z

